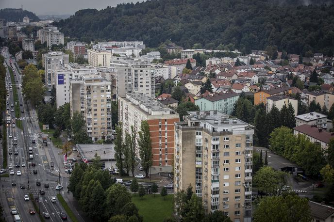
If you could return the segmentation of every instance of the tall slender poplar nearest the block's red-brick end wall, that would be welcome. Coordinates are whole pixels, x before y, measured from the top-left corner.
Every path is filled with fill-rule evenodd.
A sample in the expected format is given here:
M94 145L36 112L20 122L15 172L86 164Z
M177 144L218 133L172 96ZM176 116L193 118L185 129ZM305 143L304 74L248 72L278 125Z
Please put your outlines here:
M141 166L144 169L146 177L149 176L150 167L153 164L153 155L150 139L150 126L147 121L141 121L139 134L139 156L141 159Z

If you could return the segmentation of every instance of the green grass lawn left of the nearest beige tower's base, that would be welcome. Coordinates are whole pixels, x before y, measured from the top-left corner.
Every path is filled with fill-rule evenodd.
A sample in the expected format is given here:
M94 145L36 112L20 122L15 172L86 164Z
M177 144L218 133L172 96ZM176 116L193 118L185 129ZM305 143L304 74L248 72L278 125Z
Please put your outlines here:
M165 200L159 193L146 194L141 199L138 193L132 196L132 201L139 209L139 215L144 222L163 222L165 218L170 217L174 210L174 195L165 196Z

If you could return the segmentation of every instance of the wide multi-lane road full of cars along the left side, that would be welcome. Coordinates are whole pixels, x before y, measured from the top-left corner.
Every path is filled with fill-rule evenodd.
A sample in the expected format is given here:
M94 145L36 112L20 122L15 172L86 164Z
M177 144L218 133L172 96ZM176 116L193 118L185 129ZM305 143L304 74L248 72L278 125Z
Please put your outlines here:
M7 140L8 149L12 150L12 154L7 157L7 172L10 165L12 165L15 172L14 175L9 177L1 178L2 192L5 196L5 200L1 199L2 207L4 208L4 213L8 221L13 220L13 216L10 214L11 208L16 208L18 215L23 222L36 222L39 221L37 213L34 215L30 214L30 209L33 209L33 201L35 197L39 197L39 202L36 202L40 207L40 212L50 214L50 220L52 222L62 221L60 217L60 212L64 211L61 204L58 202L51 202L51 197L56 197L59 190L55 190L55 187L59 184L63 184L64 189L61 192L66 191L67 178L59 178L57 175L52 174L55 172L54 168L50 168L50 162L48 162L47 155L50 155L50 160L54 161L54 167L58 169L57 160L54 157L53 151L49 150L51 147L45 147L41 142L41 138L38 137L39 129L35 123L36 115L33 111L29 110L29 104L23 100L23 95L20 89L21 84L21 74L16 68L16 62L11 58L8 53L7 48L3 48L1 51L2 56L5 57L6 66L6 83L8 85L7 101L9 110L7 110L4 116L11 118L11 124L7 124ZM8 67L7 67L8 66ZM9 67L12 68L14 74L14 82L11 81ZM12 91L10 88L12 87ZM20 108L20 117L15 117L15 106L14 101L14 88L17 89L18 94L18 106ZM12 108L11 105L14 105ZM11 110L14 110L11 111ZM17 127L17 122L21 121L21 128ZM16 123L16 127L14 127ZM12 138L9 138L12 135ZM14 138L17 138L17 145L14 145ZM33 143L33 140L35 143ZM30 158L31 153L29 153L29 147L33 149L33 159ZM17 155L15 155L17 151ZM48 153L48 154L47 154ZM16 164L19 167L16 167ZM35 166L33 166L33 163ZM25 166L24 166L25 165ZM33 173L33 171L37 173ZM21 175L17 175L17 171L21 171ZM12 185L12 182L16 181L16 186ZM36 185L36 182L40 182L40 186ZM45 183L49 184L49 188L45 188ZM21 189L21 185L25 186L25 189ZM40 195L39 190L44 190L45 194ZM25 201L24 195L33 194L33 200ZM69 219L67 219L70 221Z

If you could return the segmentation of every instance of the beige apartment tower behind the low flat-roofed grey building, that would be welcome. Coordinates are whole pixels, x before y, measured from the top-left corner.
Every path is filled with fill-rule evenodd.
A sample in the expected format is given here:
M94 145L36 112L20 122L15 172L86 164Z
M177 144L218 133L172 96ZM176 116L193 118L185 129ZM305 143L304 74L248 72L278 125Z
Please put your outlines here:
M111 91L111 82L96 74L79 75L69 82L71 118L75 111L82 113L94 142L112 138Z

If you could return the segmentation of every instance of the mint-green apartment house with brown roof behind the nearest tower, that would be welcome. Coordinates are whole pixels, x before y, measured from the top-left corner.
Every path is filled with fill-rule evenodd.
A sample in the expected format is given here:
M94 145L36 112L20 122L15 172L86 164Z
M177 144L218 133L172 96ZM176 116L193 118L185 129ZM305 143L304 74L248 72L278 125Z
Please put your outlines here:
M231 114L234 103L238 98L239 95L232 91L226 93L213 93L196 99L195 105L200 107L200 111L217 110L226 114Z

